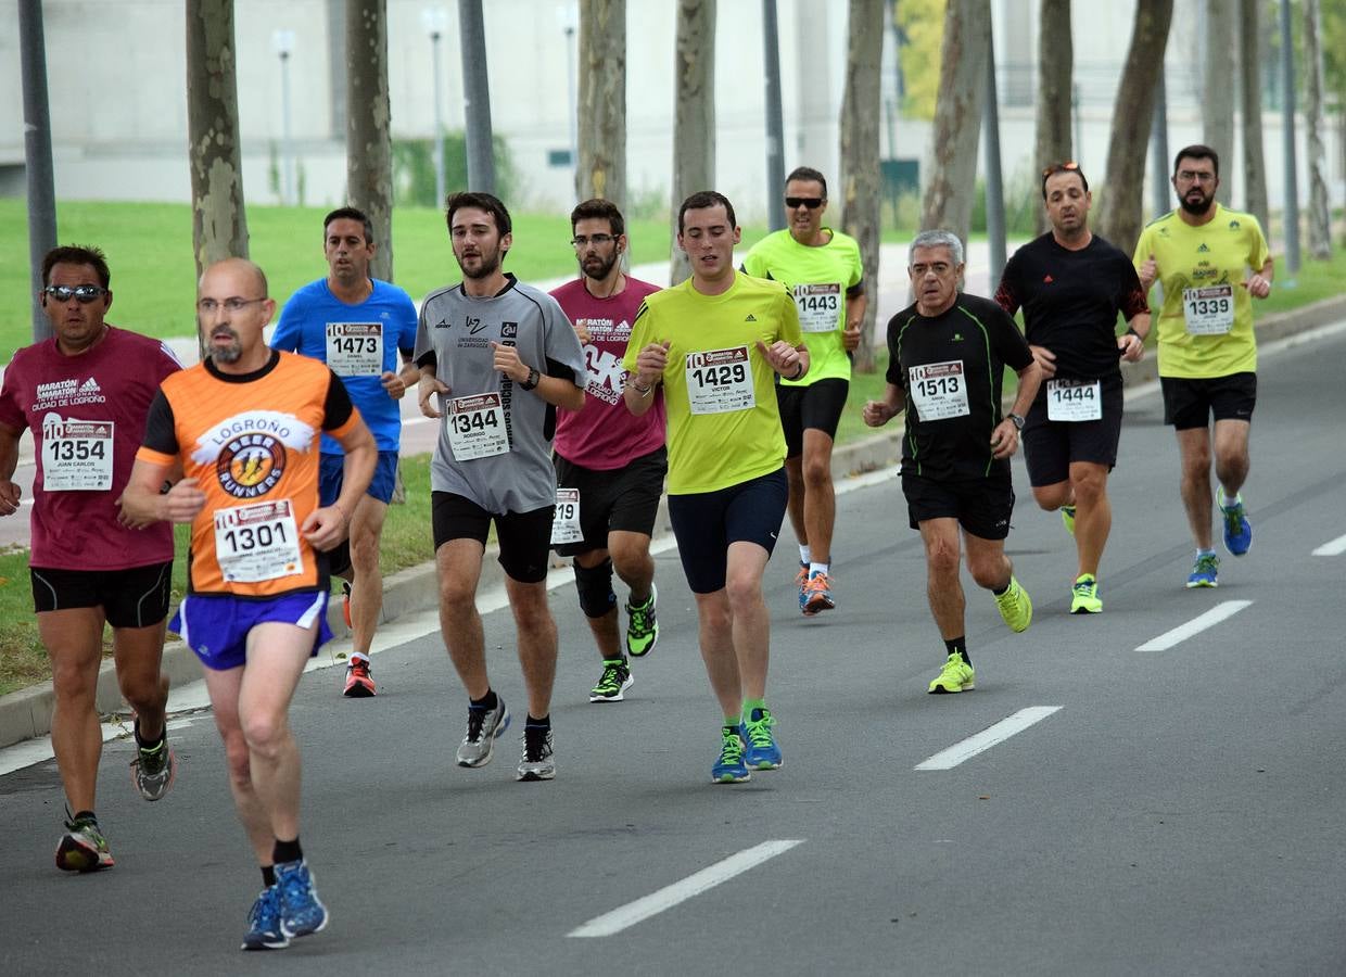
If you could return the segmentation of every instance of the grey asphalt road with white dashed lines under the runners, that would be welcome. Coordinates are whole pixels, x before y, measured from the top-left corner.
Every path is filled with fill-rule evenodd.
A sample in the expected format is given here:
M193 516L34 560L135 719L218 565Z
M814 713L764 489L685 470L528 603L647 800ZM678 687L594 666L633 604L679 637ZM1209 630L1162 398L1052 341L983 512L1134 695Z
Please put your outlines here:
M1073 544L1019 466L1010 552L1036 616L1011 634L968 584L972 693L925 693L944 649L891 474L839 499L837 611L794 612L783 533L767 599L786 762L747 785L708 782L719 715L672 549L626 702L587 702L598 658L572 589L553 592L555 782L513 776L506 610L486 637L516 725L482 770L454 766L466 701L433 615L390 628L377 698L342 700L336 670L299 689L303 841L332 923L264 961L237 950L258 876L183 689L163 802L135 795L125 740L105 750L110 872L52 867L52 762L0 775L0 972L1343 973L1343 358L1346 331L1264 358L1254 546L1214 591L1183 587L1158 396L1128 405L1102 615L1066 614ZM1191 627L1211 612L1229 616Z

